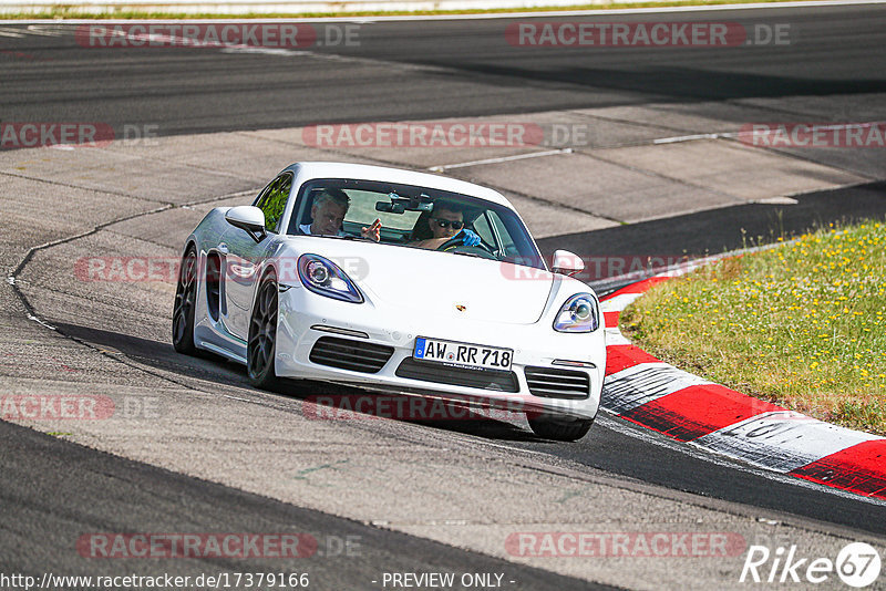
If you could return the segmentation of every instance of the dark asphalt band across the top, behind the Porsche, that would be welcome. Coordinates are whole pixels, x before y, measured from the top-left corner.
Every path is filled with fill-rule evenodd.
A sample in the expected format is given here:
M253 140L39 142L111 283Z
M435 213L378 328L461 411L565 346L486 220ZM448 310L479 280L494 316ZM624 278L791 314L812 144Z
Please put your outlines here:
M683 18L664 14L568 20ZM696 12L690 19L738 22L749 31L789 24L790 44L529 48L505 38L507 24L526 19L368 19L357 29L358 43L312 45L307 49L330 60L293 65L285 54L85 48L69 27L62 37L2 38L0 105L4 121L159 124L168 135L796 95L841 96L830 101L837 118L852 97L886 91L880 6ZM534 22L546 20L567 19ZM354 21L316 29L322 39L323 27L347 22ZM787 102L783 110L808 115Z

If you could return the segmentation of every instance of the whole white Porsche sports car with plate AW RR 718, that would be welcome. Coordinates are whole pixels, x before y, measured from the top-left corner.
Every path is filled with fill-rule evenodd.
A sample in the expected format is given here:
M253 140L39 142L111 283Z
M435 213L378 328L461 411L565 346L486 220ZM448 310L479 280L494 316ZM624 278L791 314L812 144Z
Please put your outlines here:
M298 163L250 206L188 236L173 309L181 353L306 379L525 408L583 437L606 366L599 302L557 251L548 270L513 206L477 185L379 166Z

